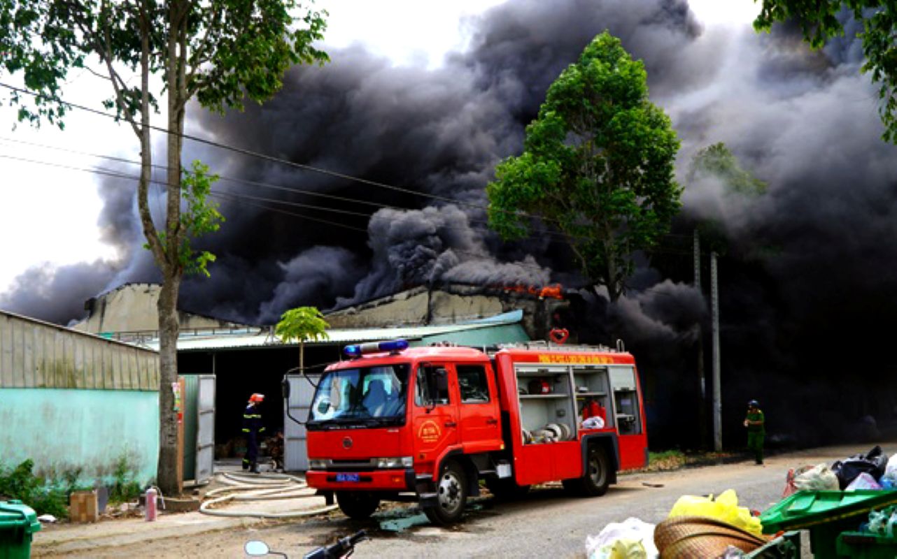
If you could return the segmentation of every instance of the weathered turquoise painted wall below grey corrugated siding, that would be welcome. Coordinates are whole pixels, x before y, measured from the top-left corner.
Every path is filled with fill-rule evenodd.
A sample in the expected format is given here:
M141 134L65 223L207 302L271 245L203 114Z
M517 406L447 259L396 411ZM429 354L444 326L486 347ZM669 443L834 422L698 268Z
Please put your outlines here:
M142 486L156 477L159 393L0 389L0 462L34 460L57 477L81 467L81 479L107 481L121 457Z

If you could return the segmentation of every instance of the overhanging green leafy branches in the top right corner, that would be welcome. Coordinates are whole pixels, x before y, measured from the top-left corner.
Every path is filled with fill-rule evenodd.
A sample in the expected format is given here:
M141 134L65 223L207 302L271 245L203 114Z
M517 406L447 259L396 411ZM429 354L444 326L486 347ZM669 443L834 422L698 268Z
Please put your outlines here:
M753 27L769 31L775 22L796 21L806 42L821 48L829 39L844 36L844 18L839 17L842 10L849 10L863 25L857 33L866 56L861 70L879 84L882 138L897 142L897 4L882 0L762 0Z

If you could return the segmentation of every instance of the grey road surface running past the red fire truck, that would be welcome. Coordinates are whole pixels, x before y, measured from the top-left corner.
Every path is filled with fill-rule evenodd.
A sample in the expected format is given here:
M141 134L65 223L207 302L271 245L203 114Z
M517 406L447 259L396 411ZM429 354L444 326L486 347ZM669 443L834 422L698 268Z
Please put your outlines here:
M393 533L379 529L379 521L409 516L411 505L378 512L374 519L357 522L334 513L327 520L278 523L232 529L187 538L157 540L148 546L118 547L90 556L239 557L249 539L262 539L272 549L298 558L316 546L335 541L358 529L368 529L372 539L356 547L353 557L584 557L586 537L597 535L606 524L631 516L651 523L666 518L681 495L718 495L735 489L739 504L763 511L777 503L788 468L820 462L831 463L874 443L827 447L772 456L764 466L751 462L682 469L674 472L620 477L602 497L570 497L560 486L532 491L517 503L494 503L481 498L468 505L464 522L440 529L423 524ZM880 442L889 455L897 441ZM650 486L646 485L650 484ZM806 538L805 538L806 541ZM87 556L87 555L84 555ZM806 551L805 551L805 556Z

